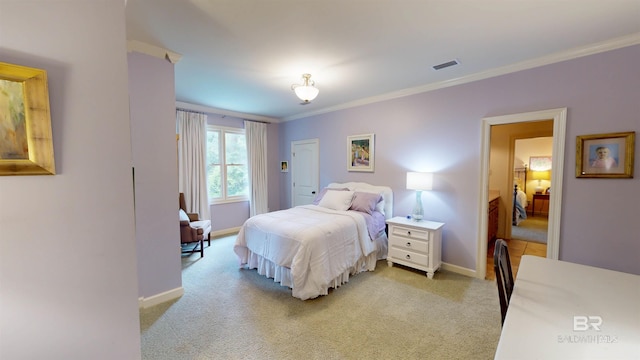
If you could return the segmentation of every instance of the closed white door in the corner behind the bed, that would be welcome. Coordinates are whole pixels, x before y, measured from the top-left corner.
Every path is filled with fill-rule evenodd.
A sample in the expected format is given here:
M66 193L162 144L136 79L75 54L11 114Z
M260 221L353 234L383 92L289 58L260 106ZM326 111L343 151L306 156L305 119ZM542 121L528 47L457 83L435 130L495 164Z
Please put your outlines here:
M318 193L320 174L318 139L291 142L291 206L307 205Z

